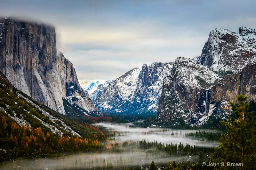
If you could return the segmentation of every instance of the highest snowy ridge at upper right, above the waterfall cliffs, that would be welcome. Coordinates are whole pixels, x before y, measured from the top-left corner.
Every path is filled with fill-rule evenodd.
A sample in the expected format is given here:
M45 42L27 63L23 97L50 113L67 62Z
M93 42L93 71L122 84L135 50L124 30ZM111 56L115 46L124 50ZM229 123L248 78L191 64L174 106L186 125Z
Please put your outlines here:
M255 30L246 27L240 27L239 33L216 28L206 42L207 53L202 53L197 61L212 71L241 71L246 64L256 61L255 39Z

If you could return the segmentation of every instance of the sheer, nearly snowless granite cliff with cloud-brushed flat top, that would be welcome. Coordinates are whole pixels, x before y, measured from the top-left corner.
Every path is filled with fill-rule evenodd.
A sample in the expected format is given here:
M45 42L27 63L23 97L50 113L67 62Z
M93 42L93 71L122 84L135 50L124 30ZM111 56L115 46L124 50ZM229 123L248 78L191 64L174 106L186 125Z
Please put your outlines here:
M0 71L14 87L62 114L62 97L84 96L73 65L57 55L52 26L3 19L0 32Z

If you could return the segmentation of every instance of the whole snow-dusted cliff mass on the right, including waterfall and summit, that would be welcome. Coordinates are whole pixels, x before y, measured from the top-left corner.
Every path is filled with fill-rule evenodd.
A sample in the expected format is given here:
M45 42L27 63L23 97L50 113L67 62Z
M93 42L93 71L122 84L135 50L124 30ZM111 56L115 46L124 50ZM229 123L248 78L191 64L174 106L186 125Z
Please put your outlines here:
M240 27L239 34L217 28L210 32L202 54L177 58L164 79L156 123L201 124L210 115L225 118L220 106L239 94L255 98L256 32Z

